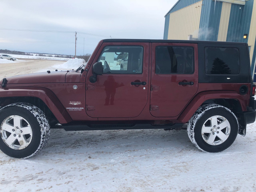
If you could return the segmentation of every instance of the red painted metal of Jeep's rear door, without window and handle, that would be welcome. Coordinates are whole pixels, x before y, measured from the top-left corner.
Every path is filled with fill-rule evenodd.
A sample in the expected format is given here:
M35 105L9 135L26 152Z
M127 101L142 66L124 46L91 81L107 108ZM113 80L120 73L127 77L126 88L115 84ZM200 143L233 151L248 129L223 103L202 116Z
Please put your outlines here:
M156 74L156 57L152 54L151 85L157 90L151 91L150 105L159 106L159 110L151 110L155 117L178 116L188 102L193 98L198 89L198 52L197 44L153 43L156 46L184 46L194 48L194 73L193 74ZM193 82L193 85L179 85L179 82Z

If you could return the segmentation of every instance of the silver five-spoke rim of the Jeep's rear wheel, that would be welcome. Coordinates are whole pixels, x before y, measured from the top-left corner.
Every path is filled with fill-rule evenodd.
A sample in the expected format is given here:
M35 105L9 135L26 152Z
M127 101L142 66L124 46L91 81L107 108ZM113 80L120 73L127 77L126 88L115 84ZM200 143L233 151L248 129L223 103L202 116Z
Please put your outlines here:
M212 116L208 118L202 127L202 138L209 145L220 145L230 135L230 123L223 116Z

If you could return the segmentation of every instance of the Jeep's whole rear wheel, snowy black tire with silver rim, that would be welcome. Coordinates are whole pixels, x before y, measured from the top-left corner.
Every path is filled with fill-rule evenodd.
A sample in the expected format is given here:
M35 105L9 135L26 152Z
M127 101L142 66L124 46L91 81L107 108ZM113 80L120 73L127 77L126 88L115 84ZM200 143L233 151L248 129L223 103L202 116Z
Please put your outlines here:
M238 120L228 108L207 104L198 108L188 122L188 137L204 152L229 148L238 134Z

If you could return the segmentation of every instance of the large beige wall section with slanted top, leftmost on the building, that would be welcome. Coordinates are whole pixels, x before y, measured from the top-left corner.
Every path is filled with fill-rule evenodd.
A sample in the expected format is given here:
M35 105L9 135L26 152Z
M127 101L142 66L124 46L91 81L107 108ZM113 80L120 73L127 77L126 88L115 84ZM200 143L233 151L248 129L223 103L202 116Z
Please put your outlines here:
M168 39L188 40L188 35L198 38L202 1L170 14Z

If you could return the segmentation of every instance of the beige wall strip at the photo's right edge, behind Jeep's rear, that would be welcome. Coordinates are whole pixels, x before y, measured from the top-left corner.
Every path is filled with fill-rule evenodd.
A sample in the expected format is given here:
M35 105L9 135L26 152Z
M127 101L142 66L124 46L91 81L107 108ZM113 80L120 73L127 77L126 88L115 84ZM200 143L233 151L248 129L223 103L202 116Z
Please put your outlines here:
M254 0L253 2L252 20L250 25L250 32L248 34L248 46L251 46L251 50L250 50L251 64L252 64L252 54L254 51L255 38L256 38L256 0Z

